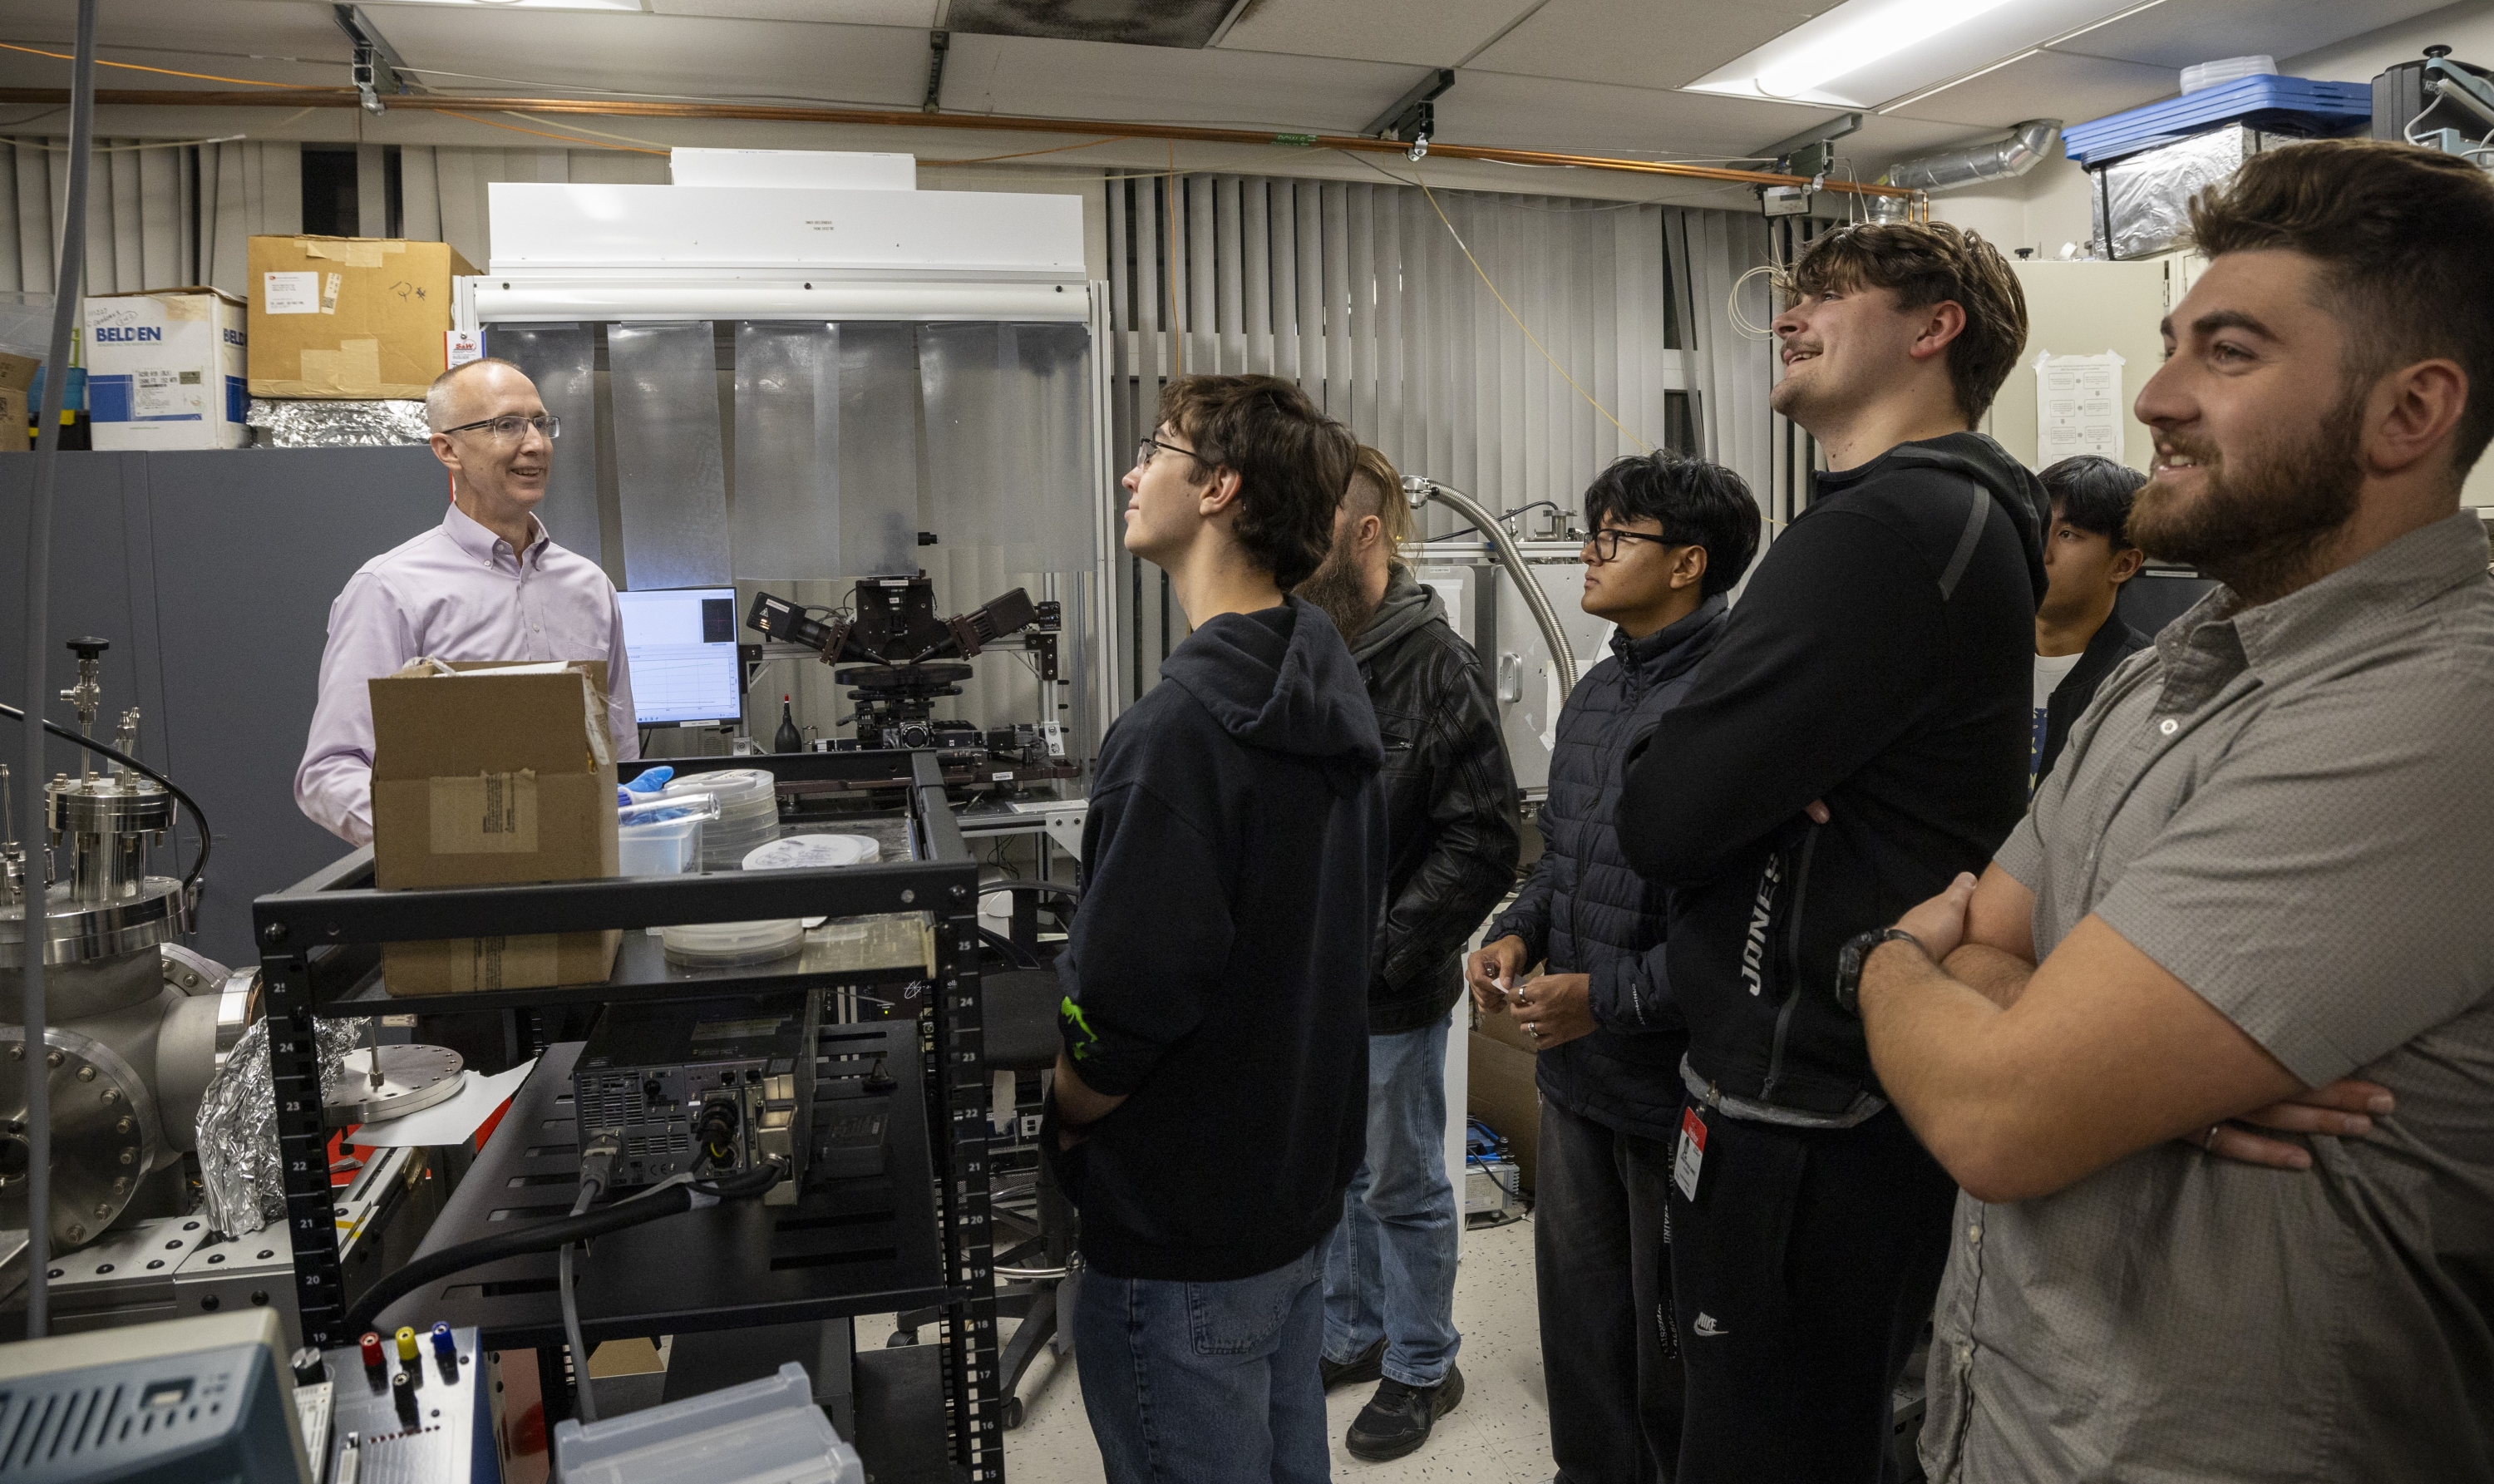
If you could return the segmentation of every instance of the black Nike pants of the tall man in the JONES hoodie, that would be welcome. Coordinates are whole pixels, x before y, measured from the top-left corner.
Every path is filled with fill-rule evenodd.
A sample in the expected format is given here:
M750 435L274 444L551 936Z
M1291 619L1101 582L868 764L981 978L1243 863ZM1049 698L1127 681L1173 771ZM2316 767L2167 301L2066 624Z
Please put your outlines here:
M1846 1130L1706 1115L1698 1197L1671 1190L1686 1484L1895 1479L1890 1394L1955 1200L1893 1107Z

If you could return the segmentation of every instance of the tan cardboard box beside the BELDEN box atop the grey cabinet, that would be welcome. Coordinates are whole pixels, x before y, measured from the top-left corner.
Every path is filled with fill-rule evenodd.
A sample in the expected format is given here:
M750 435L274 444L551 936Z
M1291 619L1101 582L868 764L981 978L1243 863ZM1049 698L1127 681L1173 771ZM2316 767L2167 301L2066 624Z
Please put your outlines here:
M446 242L252 237L252 397L424 397L474 272Z

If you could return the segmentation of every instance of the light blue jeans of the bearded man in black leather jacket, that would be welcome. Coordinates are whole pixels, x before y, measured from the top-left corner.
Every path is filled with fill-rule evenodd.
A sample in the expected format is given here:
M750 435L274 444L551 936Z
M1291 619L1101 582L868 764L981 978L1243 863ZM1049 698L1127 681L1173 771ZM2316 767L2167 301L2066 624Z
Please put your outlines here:
M1461 1217L1447 1182L1447 1020L1369 1038L1369 1147L1324 1240L1324 1357L1349 1362L1382 1337L1384 1372L1407 1387L1447 1379Z

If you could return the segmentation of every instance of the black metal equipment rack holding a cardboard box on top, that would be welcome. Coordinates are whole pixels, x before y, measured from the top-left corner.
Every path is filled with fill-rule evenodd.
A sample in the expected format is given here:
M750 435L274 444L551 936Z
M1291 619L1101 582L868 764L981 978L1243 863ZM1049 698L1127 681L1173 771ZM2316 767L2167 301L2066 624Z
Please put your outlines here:
M768 768L783 783L858 783L893 776L893 753L773 753L753 758L683 758L678 771ZM988 1058L983 1040L983 998L978 985L978 865L963 843L960 826L945 798L945 781L933 751L908 756L910 783L900 791L908 816L910 860L843 865L821 870L763 870L751 875L673 875L611 878L534 885L479 885L439 890L374 890L372 853L357 850L297 885L252 903L252 933L259 943L262 985L269 1013L269 1070L277 1092L277 1145L287 1190L287 1235L294 1247L294 1299L302 1312L304 1344L354 1344L342 1329L347 1309L337 1252L337 1222L329 1190L329 1130L322 1117L319 1053L314 1015L377 1013L461 1013L526 1010L564 1003L606 1000L681 1000L766 990L873 990L900 983L933 983L928 1035L918 1043L915 1075L893 1070L893 1107L918 1087L925 1125L913 1137L895 1132L885 1177L885 1197L873 1180L833 1182L798 1207L751 1207L743 1212L706 1210L668 1217L653 1227L599 1240L599 1265L606 1252L673 1255L673 1299L666 1312L616 1312L604 1297L636 1292L631 1287L586 1284L584 1332L671 1334L693 1329L731 1329L823 1319L835 1314L873 1314L908 1307L938 1307L945 1317L943 1379L950 1459L970 1484L1000 1484L1005 1477L1003 1397L998 1387L995 1272L988 1230ZM783 788L783 793L788 793ZM753 918L890 918L915 915L928 925L930 963L885 968L826 968L811 955L741 970L668 968L641 928L658 923L733 923ZM379 985L379 945L419 938L491 938L519 933L584 933L626 928L616 973L604 985L564 985L546 990L494 990L466 995L387 995ZM831 1025L826 1005L826 1045L848 1033L878 1025ZM910 1023L883 1023L885 1045L908 1045ZM469 1182L454 1202L474 1212L444 1212L441 1232L466 1240L479 1232L456 1227L491 1222L496 1202L486 1182L521 1180L544 1185L546 1195L529 1207L551 1202L556 1187L569 1210L566 1180L576 1175L576 1155L536 1152L549 1140L539 1125L559 1112L569 1092L569 1067L576 1045L546 1048L529 1082L504 1117L506 1130L489 1140ZM838 1050L838 1055L855 1055ZM833 1072L835 1075L835 1072ZM905 1120L893 1120L903 1125ZM511 1165L509 1170L504 1165ZM923 1180L923 1187L915 1185ZM461 1200L471 1195L474 1200ZM843 1190L848 1187L848 1190ZM925 1200L915 1200L918 1192ZM925 1212L925 1215L918 1215ZM504 1220L529 1220L504 1210ZM561 1212L554 1212L561 1215ZM816 1225L806 1225L816 1222ZM890 1257L855 1230L873 1225ZM491 1227L484 1227L491 1230ZM641 1242L624 1242L641 1237ZM865 1257L858 1257L865 1252ZM701 1284L683 1282L691 1260L716 1262L718 1272ZM544 1262L551 1272L551 1257ZM643 1267L633 1262L633 1267ZM738 1277L743 1272L743 1277ZM534 1272L531 1260L479 1267L429 1284L394 1304L392 1314L424 1307L429 1317L476 1324L489 1344L544 1344L544 1314L551 1309L551 1279ZM604 1279L601 1279L604 1282ZM459 1289L459 1292L451 1292ZM641 1287L638 1292L668 1292ZM708 1294L708 1297L703 1297ZM589 1309L596 1309L591 1317ZM394 1319L404 1322L404 1319Z

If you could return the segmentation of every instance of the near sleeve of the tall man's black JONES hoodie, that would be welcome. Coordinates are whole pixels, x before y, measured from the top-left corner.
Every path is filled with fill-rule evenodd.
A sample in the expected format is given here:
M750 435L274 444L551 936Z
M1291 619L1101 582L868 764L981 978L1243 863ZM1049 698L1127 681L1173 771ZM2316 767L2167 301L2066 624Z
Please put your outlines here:
M1826 798L1915 721L1948 616L1925 556L1878 519L1823 509L1773 544L1688 698L1629 753L1619 843L1696 885Z

